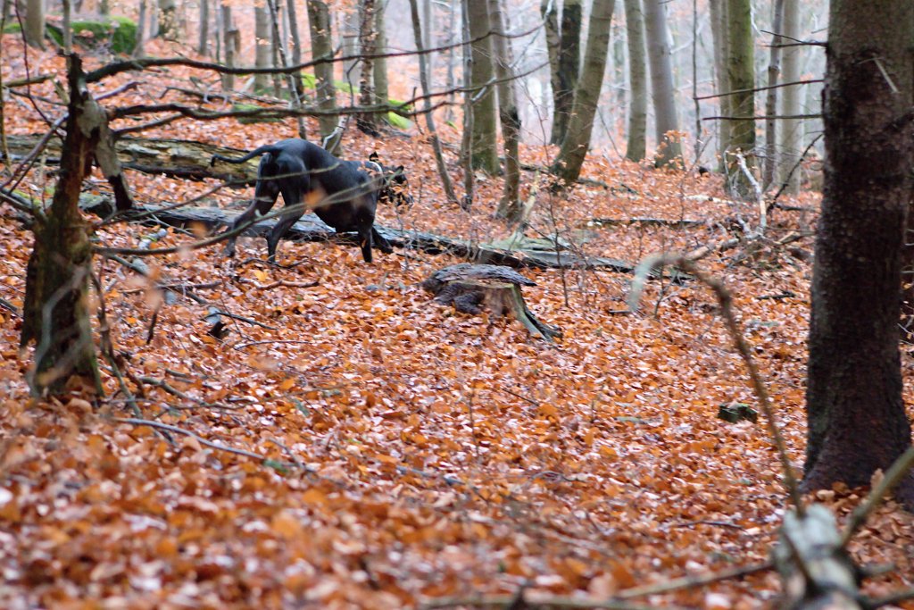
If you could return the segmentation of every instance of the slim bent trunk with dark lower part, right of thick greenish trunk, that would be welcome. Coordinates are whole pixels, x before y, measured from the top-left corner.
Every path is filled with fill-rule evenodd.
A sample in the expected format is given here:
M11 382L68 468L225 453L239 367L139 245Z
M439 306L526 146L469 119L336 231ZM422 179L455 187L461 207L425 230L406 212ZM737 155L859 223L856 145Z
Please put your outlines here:
M511 48L505 34L505 16L500 0L489 0L489 14L492 18L492 39L495 51L494 68L498 83L498 118L502 124L502 139L505 142L505 187L498 203L495 216L516 222L520 219L523 206L520 204L520 113L514 91L514 75L511 70Z

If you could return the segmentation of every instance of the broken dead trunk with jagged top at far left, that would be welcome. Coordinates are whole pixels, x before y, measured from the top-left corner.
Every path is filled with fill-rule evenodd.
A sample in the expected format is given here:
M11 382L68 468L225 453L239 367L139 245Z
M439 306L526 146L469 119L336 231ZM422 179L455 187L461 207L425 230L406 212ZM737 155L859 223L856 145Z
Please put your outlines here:
M37 213L28 259L20 344L35 341L30 385L58 392L74 376L100 387L92 342L89 279L92 249L79 208L82 181L107 131L101 106L86 89L80 58L69 55L69 117L60 174L50 209Z

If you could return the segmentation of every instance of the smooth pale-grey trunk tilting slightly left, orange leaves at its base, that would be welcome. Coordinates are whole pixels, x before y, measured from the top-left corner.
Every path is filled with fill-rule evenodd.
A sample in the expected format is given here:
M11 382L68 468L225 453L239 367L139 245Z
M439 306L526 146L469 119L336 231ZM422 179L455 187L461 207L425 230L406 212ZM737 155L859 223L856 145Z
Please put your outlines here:
M644 27L647 33L647 60L651 65L651 93L654 98L654 125L657 150L654 166L682 162L679 113L676 111L673 84L673 48L666 27L665 0L644 0Z

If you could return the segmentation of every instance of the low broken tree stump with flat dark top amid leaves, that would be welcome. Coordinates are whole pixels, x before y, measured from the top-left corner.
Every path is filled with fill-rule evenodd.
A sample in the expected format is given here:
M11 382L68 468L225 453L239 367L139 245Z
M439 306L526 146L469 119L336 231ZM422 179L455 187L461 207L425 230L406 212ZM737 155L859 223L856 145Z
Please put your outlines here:
M537 284L510 267L461 262L432 273L421 285L435 294L435 301L457 311L475 315L487 306L495 316L514 314L534 337L551 341L562 336L558 326L545 324L527 309L520 287Z

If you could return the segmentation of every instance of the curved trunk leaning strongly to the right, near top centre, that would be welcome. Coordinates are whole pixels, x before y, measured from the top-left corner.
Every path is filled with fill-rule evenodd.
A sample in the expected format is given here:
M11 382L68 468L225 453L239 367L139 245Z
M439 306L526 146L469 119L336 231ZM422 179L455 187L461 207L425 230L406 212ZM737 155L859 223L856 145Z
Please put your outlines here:
M614 0L595 0L590 11L590 31L584 51L584 68L574 92L574 106L571 110L568 133L551 167L552 173L566 185L572 184L580 176L580 168L590 148L593 118L600 102L606 57L610 50L614 5Z

